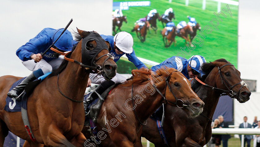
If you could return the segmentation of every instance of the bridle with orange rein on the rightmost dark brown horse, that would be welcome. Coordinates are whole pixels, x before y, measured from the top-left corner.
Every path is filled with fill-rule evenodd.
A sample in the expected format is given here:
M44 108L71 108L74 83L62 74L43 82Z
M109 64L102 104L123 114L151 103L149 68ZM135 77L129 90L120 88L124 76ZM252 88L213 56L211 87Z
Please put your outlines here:
M221 66L221 67L218 67L218 74L217 74L216 76L219 75L219 77L220 77L220 79L221 79L221 83L222 83L222 84L224 83L224 85L226 86L226 88L227 88L228 90L224 90L224 89L212 87L212 86L210 86L210 85L208 85L208 84L203 83L203 82L202 82L201 80L199 80L197 77L195 77L195 78L193 78L193 79L197 80L197 81L198 81L199 83L201 83L202 85L211 87L213 90L219 90L219 91L221 91L221 92L222 92L221 96L225 96L225 95L230 94L230 95L231 95L231 99L235 99L235 97L233 97L233 96L235 96L235 95L237 94L236 92L233 92L232 89L233 89L236 85L239 85L239 84L242 85L242 84L243 84L243 85L240 87L239 91L238 91L238 95L237 95L237 98L238 98L238 97L239 97L240 90L241 90L244 86L247 87L247 84L245 84L244 81L241 81L241 82L239 82L239 83L234 84L233 86L231 86L231 85L227 82L227 80L224 78L223 74L222 74L221 71L220 71L220 69L221 69L222 67L227 66L227 65L229 65L229 66L234 66L233 64L225 64L225 65L223 65L223 66ZM215 76L215 78L216 78L216 76ZM215 80L215 78L214 78L214 80ZM229 88L229 87L230 87L230 88Z

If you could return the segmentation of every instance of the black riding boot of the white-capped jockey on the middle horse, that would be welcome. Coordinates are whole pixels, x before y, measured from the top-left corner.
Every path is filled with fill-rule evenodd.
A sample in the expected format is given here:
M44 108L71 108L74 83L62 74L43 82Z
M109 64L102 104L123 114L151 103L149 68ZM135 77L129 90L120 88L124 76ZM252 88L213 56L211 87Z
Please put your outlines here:
M100 85L98 85L98 87L96 88L96 92L98 92L98 94L102 94L107 88L109 88L110 86L114 85L115 82L111 81L111 80L106 80L103 83L101 83ZM96 94L96 92L92 92L91 96L89 96L85 101L85 105L86 107L89 107L89 104L91 104L94 100L96 100L98 98L98 95Z

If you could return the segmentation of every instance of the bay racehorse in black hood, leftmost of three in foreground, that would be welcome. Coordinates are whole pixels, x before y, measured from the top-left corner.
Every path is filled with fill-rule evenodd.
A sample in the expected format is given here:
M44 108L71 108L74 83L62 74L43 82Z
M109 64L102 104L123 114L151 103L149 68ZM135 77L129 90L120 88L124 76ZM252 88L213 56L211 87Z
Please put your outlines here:
M28 95L28 121L36 141L26 133L28 130L24 128L21 112L4 110L7 92L21 77L0 77L0 146L3 146L8 131L26 140L24 146L84 146L86 138L80 131L85 114L81 102L89 72L94 70L111 79L116 74L117 65L108 52L109 44L105 44L98 33L77 31L77 46L66 53L61 66ZM15 99L13 101L15 103Z

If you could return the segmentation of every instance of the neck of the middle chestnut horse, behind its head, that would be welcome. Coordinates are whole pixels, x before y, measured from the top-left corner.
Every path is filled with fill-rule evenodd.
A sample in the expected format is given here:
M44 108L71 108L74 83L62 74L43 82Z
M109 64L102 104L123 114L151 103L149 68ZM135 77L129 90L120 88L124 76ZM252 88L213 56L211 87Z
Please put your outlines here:
M157 77L154 79L154 84L156 88L163 94L165 95L165 81L163 80L164 77ZM143 100L141 101L140 104L137 104L137 107L135 108L137 112L137 117L139 120L144 122L146 119L149 118L149 116L152 115L152 113L159 108L163 102L164 99L163 97L153 88L152 84L150 81L145 82L144 84L136 84L136 90L133 92L133 97L134 96L139 96ZM141 114L141 115L140 115Z

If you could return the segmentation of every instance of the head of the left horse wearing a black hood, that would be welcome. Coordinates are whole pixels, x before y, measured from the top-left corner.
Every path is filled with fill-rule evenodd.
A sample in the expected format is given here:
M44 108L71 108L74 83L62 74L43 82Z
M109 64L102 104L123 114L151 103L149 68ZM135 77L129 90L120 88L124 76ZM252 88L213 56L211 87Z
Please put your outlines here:
M106 80L112 79L116 74L117 65L113 56L109 54L109 43L95 31L82 31L77 28L82 38L78 44L81 47L82 65L86 70L94 71L102 75Z

